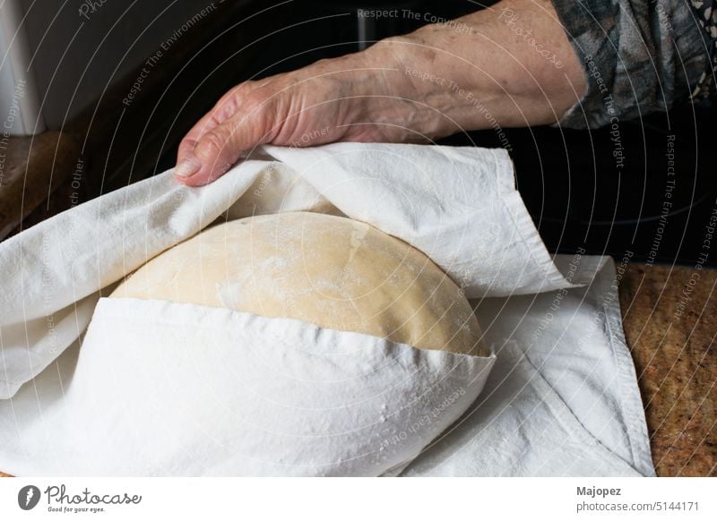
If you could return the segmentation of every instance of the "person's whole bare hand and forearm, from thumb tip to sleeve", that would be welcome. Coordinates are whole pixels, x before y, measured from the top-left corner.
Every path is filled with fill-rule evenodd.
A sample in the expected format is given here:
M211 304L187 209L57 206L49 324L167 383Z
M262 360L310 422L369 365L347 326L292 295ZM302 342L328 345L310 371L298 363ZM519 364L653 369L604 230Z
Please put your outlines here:
M504 0L360 53L241 83L186 134L175 175L190 186L211 183L263 143L417 142L554 123L585 87L549 0Z

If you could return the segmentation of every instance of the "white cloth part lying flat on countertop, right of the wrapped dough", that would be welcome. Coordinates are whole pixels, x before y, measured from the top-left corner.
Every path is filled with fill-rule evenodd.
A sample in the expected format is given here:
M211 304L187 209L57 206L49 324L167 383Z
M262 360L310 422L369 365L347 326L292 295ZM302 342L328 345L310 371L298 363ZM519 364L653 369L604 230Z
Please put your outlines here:
M587 287L477 303L497 363L471 409L403 475L654 475L615 266L597 259L576 262Z

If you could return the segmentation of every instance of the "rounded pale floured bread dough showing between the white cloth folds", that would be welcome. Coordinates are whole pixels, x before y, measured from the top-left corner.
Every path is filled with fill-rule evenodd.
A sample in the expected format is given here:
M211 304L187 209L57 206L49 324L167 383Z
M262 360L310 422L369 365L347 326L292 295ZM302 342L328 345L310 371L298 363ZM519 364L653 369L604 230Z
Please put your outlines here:
M425 254L374 226L313 212L208 228L137 269L111 296L225 307L487 354L471 305Z

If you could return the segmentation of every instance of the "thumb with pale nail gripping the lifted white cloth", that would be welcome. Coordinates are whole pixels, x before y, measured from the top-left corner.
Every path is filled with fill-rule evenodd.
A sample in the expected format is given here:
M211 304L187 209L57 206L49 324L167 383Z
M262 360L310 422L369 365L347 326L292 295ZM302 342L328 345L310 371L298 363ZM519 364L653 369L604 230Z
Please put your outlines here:
M183 151L175 169L177 179L188 186L212 183L226 174L245 150L268 142L259 127L238 115L204 133L194 141L193 149Z

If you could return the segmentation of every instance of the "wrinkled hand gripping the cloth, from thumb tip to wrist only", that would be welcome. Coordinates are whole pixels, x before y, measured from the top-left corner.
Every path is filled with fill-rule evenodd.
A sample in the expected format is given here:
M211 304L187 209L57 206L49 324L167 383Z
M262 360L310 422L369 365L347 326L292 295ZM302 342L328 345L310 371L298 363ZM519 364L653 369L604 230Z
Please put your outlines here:
M263 143L306 147L333 141L418 141L401 124L383 125L371 118L382 105L386 112L379 119L400 123L410 114L408 102L376 98L392 91L387 73L394 71L380 66L388 62L376 59L376 52L358 53L241 83L186 134L175 175L191 186L211 183Z

